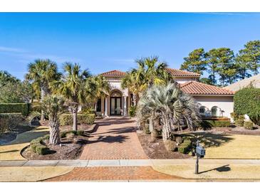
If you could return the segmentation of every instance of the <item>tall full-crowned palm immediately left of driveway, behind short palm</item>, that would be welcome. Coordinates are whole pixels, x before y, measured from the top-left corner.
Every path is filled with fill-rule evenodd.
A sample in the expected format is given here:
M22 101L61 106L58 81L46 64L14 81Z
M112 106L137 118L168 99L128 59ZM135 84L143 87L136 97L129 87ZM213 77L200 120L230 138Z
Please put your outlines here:
M65 63L65 75L61 80L53 82L51 85L59 93L66 97L69 108L73 114L73 130L78 130L78 107L91 101L91 96L95 92L93 83L88 70L80 70L77 63Z

